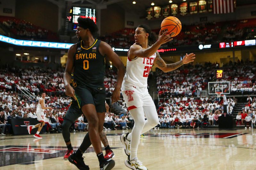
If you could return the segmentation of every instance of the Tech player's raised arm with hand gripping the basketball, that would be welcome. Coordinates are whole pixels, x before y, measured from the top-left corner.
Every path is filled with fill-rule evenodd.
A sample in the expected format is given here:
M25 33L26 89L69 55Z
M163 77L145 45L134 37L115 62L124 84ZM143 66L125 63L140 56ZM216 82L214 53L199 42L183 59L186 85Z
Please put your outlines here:
M172 41L172 37L170 35L166 35L166 33L167 33L167 31L162 33L162 31L160 30L158 40L155 42L155 44L153 44L151 47L149 47L147 49L141 48L137 44L133 44L129 50L129 58L133 59L135 57L150 57L150 56L154 55L156 50L158 50L158 48L162 44Z

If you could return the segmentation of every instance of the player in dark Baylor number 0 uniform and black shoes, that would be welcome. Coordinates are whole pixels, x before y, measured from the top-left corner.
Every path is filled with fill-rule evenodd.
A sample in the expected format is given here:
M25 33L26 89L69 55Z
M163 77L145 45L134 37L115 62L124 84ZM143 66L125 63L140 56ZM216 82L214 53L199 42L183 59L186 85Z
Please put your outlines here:
M112 103L120 98L124 64L107 43L94 39L93 36L97 33L98 27L90 18L78 18L77 21L76 35L78 39L81 38L81 41L72 45L68 50L68 60L63 79L66 95L81 101L80 107L89 123L89 137L84 138L79 149L70 155L68 160L79 169L89 169L89 166L84 164L82 155L85 152L86 144L91 141L99 159L100 169L109 170L115 166L115 161L104 159L99 135L105 119L105 56L118 69L117 82L112 93ZM74 88L69 84L73 69L74 83L76 84Z

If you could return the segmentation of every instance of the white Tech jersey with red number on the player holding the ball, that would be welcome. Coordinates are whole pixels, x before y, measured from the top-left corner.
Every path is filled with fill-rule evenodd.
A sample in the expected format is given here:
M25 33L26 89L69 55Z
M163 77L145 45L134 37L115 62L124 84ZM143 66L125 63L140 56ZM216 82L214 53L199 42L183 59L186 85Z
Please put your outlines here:
M156 53L150 57L135 57L133 60L128 59L126 66L126 73L124 75L124 82L128 82L137 87L148 86L149 71L155 61Z

